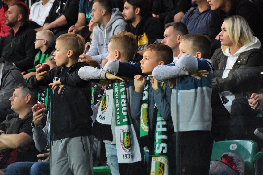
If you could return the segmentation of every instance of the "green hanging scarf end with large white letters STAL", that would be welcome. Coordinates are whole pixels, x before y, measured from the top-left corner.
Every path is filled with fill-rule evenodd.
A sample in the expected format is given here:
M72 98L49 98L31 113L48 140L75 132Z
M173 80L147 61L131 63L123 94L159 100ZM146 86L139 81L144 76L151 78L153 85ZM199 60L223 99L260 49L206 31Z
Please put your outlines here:
M167 82L163 84L162 90L165 91ZM168 175L168 154L167 154L167 123L161 117L156 104L154 105L153 119L155 130L153 130L153 137L149 152L150 174Z

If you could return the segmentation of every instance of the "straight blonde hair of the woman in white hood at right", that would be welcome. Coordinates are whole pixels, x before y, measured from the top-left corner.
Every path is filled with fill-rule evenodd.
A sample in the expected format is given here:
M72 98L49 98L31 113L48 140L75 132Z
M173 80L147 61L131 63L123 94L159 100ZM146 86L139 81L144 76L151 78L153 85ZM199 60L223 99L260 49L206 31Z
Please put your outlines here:
M253 32L248 22L242 16L229 16L225 18L226 30L230 40L237 46L253 42Z

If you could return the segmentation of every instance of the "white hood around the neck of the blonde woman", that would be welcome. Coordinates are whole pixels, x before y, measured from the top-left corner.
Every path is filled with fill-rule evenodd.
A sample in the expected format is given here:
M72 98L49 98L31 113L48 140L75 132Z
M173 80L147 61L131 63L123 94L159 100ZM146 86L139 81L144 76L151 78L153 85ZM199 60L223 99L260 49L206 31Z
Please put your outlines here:
M249 43L248 45L244 45L242 46L235 54L230 55L230 51L229 51L229 47L226 46L221 46L221 49L224 53L224 55L226 55L227 57L237 57L239 56L241 53L248 51L250 49L259 49L261 47L261 43L259 41L259 39L257 39L257 37L253 36L253 42Z

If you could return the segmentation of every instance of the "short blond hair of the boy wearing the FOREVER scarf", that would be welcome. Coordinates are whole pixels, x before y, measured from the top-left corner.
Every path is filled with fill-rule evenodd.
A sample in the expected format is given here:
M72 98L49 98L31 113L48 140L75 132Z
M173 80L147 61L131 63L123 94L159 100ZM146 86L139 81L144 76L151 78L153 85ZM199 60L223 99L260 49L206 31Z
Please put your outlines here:
M134 58L137 52L137 44L135 36L127 31L120 31L109 39L112 50L121 53L124 59L130 60Z

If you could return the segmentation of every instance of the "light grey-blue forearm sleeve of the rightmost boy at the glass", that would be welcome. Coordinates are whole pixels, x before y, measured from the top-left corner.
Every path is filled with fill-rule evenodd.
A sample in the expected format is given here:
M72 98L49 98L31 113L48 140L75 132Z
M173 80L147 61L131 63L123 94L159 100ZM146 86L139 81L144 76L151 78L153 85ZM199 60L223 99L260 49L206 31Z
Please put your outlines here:
M158 65L152 71L153 78L157 81L165 81L167 79L189 75L189 72L177 67L175 64Z

